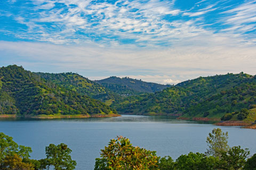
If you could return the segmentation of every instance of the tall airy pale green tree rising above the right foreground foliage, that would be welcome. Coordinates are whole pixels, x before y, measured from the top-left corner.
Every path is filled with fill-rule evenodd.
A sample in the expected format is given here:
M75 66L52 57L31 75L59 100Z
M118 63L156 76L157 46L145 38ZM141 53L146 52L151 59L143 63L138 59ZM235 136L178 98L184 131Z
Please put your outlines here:
M228 151L228 132L224 133L220 128L213 129L206 138L207 146L209 147L205 154L220 157L222 151Z

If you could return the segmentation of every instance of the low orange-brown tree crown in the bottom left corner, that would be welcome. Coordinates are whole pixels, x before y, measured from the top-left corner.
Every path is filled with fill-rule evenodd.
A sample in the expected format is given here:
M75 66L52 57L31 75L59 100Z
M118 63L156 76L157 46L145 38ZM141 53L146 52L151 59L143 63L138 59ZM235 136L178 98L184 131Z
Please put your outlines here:
M34 170L34 165L23 163L22 158L17 154L7 155L3 159L2 170Z

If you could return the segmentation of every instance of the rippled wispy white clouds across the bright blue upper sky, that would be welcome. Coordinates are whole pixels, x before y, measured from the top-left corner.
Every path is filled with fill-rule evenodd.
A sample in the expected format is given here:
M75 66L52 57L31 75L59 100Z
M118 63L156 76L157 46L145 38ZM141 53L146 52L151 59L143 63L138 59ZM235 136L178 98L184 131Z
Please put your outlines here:
M228 9L223 9L221 1L201 1L190 10L178 8L176 2L35 0L23 3L17 8L18 13L9 16L26 25L11 33L19 39L54 44L94 41L105 46L172 46L202 33L212 35L232 30L241 34L255 29L255 1ZM15 1L13 3L15 5ZM214 23L230 27L211 27L214 23L205 19L209 13L216 18ZM216 17L218 13L221 16ZM242 28L244 24L247 26Z

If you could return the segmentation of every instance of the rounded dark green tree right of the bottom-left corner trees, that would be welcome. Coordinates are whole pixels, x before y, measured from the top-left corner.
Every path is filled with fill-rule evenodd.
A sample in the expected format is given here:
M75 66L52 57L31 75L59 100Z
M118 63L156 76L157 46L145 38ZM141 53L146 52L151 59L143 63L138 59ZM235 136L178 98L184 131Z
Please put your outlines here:
M46 165L47 169L51 165L54 166L55 170L75 169L76 161L71 159L71 151L64 143L60 143L57 146L50 144L49 147L45 147L46 159L42 160L42 163Z

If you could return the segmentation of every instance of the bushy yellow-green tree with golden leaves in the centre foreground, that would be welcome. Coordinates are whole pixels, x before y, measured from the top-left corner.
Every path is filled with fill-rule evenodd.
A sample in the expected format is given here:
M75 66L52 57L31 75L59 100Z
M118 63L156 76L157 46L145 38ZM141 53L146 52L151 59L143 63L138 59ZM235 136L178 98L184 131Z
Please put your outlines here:
M159 157L156 151L133 147L129 139L117 137L112 139L105 149L101 150L94 170L102 169L156 169Z

